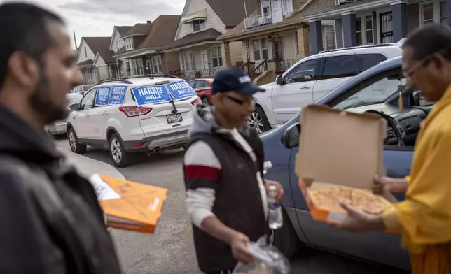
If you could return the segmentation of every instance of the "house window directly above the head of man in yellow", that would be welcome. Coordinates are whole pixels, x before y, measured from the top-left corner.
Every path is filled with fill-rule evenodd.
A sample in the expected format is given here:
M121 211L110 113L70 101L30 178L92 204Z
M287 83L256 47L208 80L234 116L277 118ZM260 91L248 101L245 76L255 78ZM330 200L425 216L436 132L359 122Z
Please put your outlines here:
M420 24L442 23L447 24L446 1L431 0L419 4Z

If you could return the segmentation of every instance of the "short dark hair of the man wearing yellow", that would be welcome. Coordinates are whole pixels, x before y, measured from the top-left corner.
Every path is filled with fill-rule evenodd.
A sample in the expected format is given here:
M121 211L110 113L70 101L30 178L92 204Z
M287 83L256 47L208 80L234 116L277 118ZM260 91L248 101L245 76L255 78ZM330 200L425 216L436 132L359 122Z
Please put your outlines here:
M408 35L403 48L412 48L413 58L422 60L434 53L451 59L451 27L447 24L426 24Z

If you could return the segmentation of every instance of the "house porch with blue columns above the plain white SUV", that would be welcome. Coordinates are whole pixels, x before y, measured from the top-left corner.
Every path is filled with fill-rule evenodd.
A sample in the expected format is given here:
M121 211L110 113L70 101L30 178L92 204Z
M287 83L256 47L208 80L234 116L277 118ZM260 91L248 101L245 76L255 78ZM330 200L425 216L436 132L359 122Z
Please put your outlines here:
M451 22L451 0L329 1L323 11L304 16L310 24L310 54L327 48L324 21L333 22L336 48L397 43L424 24Z

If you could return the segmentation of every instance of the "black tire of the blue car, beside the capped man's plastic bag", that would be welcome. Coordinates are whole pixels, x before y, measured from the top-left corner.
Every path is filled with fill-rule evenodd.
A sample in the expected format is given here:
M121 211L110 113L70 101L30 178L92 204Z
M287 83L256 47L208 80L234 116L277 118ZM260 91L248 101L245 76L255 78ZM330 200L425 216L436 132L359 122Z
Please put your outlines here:
M301 243L284 209L282 209L282 215L284 224L280 229L272 230L270 243L277 247L286 258L291 259L298 252Z

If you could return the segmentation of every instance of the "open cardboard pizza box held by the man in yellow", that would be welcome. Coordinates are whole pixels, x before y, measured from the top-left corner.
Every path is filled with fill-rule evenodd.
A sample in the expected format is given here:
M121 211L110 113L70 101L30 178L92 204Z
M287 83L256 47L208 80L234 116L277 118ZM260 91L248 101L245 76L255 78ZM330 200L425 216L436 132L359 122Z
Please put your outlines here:
M326 210L312 203L310 192L330 187L352 187L396 198L382 187L375 188L374 175L384 175L382 153L387 122L373 113L350 113L328 106L310 105L300 115L296 175L314 219L338 224L345 210Z

